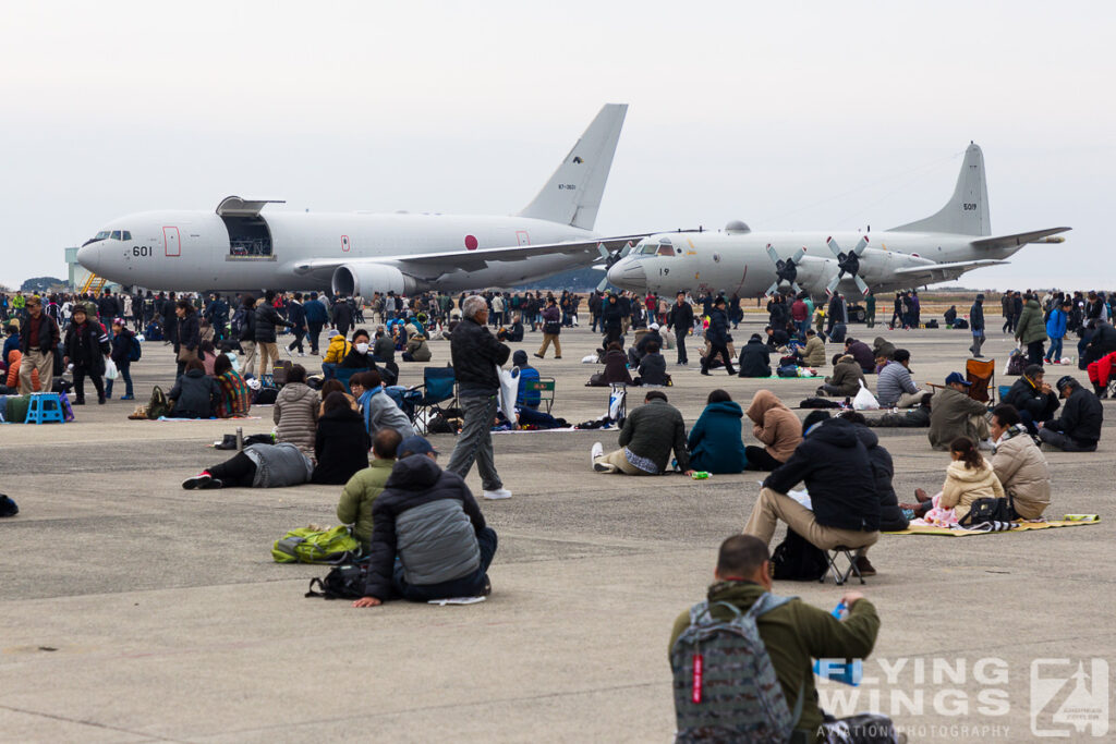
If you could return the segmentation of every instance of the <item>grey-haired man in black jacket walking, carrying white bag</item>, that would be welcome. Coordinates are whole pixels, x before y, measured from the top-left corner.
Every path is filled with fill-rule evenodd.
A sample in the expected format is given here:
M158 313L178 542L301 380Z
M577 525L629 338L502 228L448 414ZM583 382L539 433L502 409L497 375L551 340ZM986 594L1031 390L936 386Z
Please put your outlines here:
M445 468L465 477L475 461L485 499L511 497L511 491L503 487L496 472L492 453L492 423L500 396L497 367L510 356L511 349L488 329L488 302L479 294L466 297L461 308L461 322L450 337L450 357L458 377L464 422Z

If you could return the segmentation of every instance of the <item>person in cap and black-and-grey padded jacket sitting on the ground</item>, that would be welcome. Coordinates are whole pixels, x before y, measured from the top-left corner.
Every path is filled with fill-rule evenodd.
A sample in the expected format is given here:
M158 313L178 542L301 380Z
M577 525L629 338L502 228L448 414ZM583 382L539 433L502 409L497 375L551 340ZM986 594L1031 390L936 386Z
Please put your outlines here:
M365 596L353 607L490 593L497 534L464 480L439 467L437 451L421 436L403 439L397 457L372 505Z

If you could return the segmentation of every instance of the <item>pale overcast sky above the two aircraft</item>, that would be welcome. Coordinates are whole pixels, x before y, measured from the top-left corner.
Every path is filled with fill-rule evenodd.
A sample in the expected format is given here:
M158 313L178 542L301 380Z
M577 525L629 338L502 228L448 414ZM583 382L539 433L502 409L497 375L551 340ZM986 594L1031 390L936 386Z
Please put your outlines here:
M1108 2L9 3L0 283L150 209L508 214L631 105L597 229L875 230L970 139L994 234L1070 225L979 287L1116 287Z

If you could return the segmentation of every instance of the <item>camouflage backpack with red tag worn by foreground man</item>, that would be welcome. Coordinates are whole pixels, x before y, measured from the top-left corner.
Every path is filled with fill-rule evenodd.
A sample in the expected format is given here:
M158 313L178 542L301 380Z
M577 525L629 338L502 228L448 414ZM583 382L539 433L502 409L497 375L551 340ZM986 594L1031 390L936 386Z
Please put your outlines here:
M732 611L730 620L714 618L709 602L690 609L690 627L671 649L675 742L790 738L802 713L802 690L792 713L756 620L791 599L764 593L748 612L716 602Z

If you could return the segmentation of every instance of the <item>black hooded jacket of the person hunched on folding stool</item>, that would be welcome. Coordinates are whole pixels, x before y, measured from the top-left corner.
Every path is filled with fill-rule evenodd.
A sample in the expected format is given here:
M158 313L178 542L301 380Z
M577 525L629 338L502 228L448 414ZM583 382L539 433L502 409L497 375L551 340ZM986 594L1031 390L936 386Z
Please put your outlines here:
M877 531L881 500L868 450L857 428L844 418L822 422L802 439L790 460L767 476L763 486L787 493L805 482L818 524Z

